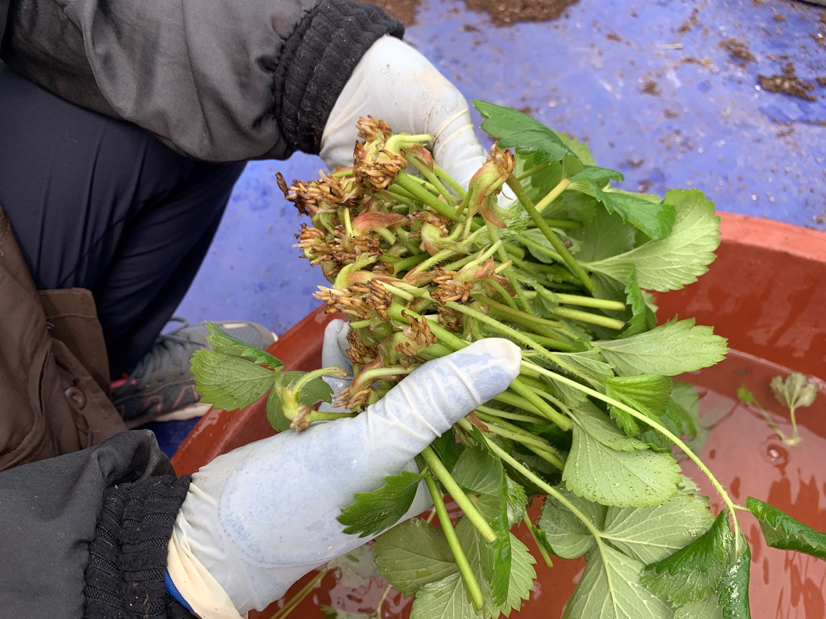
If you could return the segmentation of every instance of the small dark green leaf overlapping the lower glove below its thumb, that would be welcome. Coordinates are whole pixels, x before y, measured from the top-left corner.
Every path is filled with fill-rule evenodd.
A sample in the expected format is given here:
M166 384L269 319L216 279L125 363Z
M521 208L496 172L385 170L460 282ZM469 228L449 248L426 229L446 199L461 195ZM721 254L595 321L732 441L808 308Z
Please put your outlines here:
M418 473L402 470L399 475L385 477L381 488L356 494L355 503L344 508L338 518L346 527L344 532L366 537L395 525L411 508L422 479Z

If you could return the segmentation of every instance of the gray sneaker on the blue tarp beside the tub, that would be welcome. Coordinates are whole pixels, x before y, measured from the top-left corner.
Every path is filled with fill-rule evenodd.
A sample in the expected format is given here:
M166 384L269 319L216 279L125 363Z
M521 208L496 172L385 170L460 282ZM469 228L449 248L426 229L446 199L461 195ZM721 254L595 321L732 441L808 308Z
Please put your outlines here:
M209 348L204 323L189 324L173 316L170 322L182 325L162 333L147 355L129 376L112 382L112 402L126 422L137 428L151 421L171 421L201 417L211 404L202 404L194 390L195 379L189 371L192 353ZM260 324L241 321L211 321L234 338L266 350L278 339Z

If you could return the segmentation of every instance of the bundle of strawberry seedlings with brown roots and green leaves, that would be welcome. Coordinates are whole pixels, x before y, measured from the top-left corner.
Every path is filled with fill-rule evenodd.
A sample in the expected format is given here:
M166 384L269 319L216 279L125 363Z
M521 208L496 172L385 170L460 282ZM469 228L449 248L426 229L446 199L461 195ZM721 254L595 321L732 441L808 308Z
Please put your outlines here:
M584 144L518 111L475 102L497 139L465 190L434 163L430 135L362 119L352 168L315 182L279 176L312 225L298 246L330 282L317 298L349 318L354 378L330 401L319 376L213 329L193 361L198 391L239 408L268 395L273 427L358 414L425 361L481 338L522 349L520 376L339 517L380 534L380 573L415 598L411 617L499 617L534 586L535 559L510 529L524 523L542 555L587 567L565 617L749 617L748 542L737 511L770 546L824 558L826 536L757 499L735 505L691 450L695 399L672 376L714 365L724 338L691 319L657 326L648 291L690 284L714 260L719 218L697 190L664 199L621 191ZM513 149L512 151L509 149ZM504 196L513 196L508 199ZM723 503L682 477L694 461ZM424 481L440 527L396 522ZM449 517L443 494L461 508ZM544 497L537 522L529 499Z

